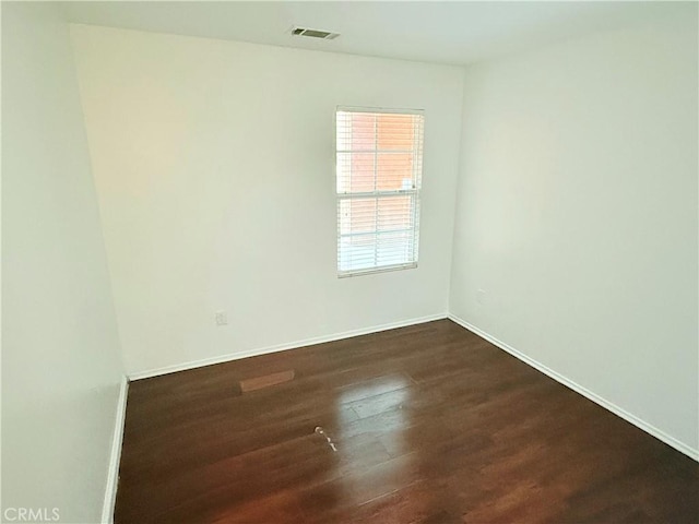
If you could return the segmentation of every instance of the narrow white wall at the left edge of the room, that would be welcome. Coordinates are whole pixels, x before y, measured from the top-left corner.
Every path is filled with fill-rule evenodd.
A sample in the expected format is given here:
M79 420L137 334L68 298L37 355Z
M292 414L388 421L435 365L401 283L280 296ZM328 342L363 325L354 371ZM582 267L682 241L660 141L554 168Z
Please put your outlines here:
M2 3L2 516L100 519L121 381L68 24Z

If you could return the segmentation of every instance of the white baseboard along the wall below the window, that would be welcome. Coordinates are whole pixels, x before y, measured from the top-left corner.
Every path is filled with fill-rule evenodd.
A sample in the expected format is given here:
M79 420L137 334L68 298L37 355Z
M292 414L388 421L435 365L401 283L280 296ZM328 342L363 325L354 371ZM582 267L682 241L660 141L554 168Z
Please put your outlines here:
M250 349L250 350L239 352L239 353L230 353L230 354L221 355L217 357L204 358L201 360L192 360L190 362L178 364L175 366L166 366L164 368L156 368L147 371L139 371L135 373L130 373L129 380L149 379L151 377L158 377L161 374L168 374L168 373L175 373L177 371L185 371L188 369L201 368L203 366L211 366L213 364L229 362L232 360L239 360L241 358L248 358L248 357L257 357L260 355L266 355L269 353L285 352L287 349L312 346L315 344L324 344L325 342L334 342L343 338L351 338L353 336L367 335L370 333L378 333L381 331L394 330L396 327L405 327L407 325L423 324L425 322L431 322L434 320L442 320L446 318L448 318L447 313L430 314L428 317L419 317L416 319L408 319L400 322L391 322L389 324L372 325L370 327L345 331L342 333L334 333L332 335L318 336L313 338L305 338L303 341L295 341L286 344L279 344L275 346L261 347L261 348Z

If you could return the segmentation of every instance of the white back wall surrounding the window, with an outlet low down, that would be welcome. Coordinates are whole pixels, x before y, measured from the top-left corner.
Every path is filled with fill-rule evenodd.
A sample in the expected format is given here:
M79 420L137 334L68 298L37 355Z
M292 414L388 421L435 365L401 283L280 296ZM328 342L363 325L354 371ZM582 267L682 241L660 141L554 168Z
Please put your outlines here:
M72 37L129 372L446 313L462 69ZM416 270L336 277L337 105L426 111Z

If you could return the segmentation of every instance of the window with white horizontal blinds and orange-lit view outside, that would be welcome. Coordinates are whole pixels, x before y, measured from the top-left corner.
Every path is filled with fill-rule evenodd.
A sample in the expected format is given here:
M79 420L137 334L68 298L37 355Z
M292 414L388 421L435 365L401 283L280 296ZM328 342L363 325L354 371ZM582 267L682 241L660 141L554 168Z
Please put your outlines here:
M423 111L339 107L337 275L417 266Z

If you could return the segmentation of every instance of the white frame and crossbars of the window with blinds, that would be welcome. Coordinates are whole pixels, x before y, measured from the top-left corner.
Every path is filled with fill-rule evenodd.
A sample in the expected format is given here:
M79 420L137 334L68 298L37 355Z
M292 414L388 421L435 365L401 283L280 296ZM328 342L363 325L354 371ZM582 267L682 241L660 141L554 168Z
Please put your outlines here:
M369 192L341 192L339 191L339 171L340 164L339 157L340 153L352 153L353 150L339 150L337 148L337 114L339 112L367 112L367 114L377 114L377 115L417 115L422 117L422 122L419 124L419 133L415 136L415 145L410 152L414 155L413 157L413 187L400 190L392 191L369 191ZM368 275L375 273L382 273L388 271L396 271L396 270L408 270L415 269L418 265L418 253L419 253L419 210L420 210L420 193L422 193L422 178L423 178L423 150L424 150L424 140L425 140L425 111L423 109L398 109L398 108L384 108L384 107L356 107L356 106L337 106L335 109L335 191L336 191L336 205L337 205L337 277L351 277L351 276L359 276L359 275ZM369 151L362 151L364 153L374 153L378 155L381 151L378 147ZM395 151L393 151L395 152ZM367 199L375 198L377 200L380 199L390 199L399 195L411 195L413 199L413 222L412 227L405 229L406 231L412 233L413 235L413 250L412 250L412 260L408 260L405 263L390 264L390 265L374 265L370 267L363 269L342 269L341 261L341 242L343 238L352 236L353 234L342 234L341 231L341 205L344 200L350 199ZM378 207L378 206L377 206ZM375 235L378 235L380 231L378 229L375 230ZM378 243L374 247L375 253L378 252ZM375 259L376 262L376 259ZM377 262L378 263L378 262Z

